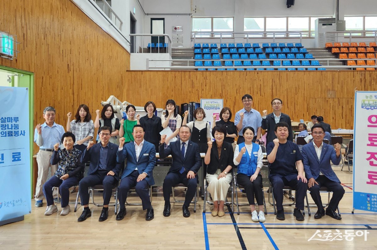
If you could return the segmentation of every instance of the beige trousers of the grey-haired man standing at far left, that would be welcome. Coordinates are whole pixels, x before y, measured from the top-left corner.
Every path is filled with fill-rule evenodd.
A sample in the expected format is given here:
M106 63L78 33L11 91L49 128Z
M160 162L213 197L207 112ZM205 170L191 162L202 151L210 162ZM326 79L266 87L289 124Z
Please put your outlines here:
M37 185L35 186L35 196L34 196L34 199L36 201L43 200L43 184L47 180L49 167L51 166L51 176L54 175L56 170L58 169L58 164L56 165L50 164L51 155L52 155L52 152L44 151L44 150L39 150L39 152L37 153L38 178L37 178ZM54 190L53 196L57 197L56 189Z

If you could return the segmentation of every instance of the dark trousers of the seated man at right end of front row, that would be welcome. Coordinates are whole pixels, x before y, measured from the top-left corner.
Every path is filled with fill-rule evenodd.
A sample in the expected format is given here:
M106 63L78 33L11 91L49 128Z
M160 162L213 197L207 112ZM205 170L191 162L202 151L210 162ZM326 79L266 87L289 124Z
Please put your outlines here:
M337 209L340 200L343 198L344 195L344 189L340 183L337 183L335 181L331 181L329 178L327 178L324 175L318 176L316 179L317 184L314 184L313 187L311 187L310 195L311 198L313 198L313 201L316 203L319 210L323 209L321 195L319 193L319 189L322 186L325 186L328 188L329 191L333 192L333 197L331 198L328 207L330 209L333 209L334 211Z

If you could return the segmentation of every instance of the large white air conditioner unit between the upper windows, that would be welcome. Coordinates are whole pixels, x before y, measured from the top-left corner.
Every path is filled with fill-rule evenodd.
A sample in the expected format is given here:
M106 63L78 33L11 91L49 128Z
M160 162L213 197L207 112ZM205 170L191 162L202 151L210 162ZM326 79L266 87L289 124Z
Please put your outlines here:
M326 37L324 35L325 31ZM335 18L318 18L316 21L316 47L324 48L326 43L334 43L338 41L336 31L336 19Z

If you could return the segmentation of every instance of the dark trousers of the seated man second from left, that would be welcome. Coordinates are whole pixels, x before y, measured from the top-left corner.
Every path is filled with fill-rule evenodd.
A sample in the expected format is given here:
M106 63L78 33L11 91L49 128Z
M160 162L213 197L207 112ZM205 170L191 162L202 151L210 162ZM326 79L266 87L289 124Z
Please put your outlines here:
M89 204L88 188L95 185L103 185L103 204L109 205L112 194L112 188L115 185L114 176L107 175L107 170L97 170L95 173L81 179L78 184L80 192L81 206Z

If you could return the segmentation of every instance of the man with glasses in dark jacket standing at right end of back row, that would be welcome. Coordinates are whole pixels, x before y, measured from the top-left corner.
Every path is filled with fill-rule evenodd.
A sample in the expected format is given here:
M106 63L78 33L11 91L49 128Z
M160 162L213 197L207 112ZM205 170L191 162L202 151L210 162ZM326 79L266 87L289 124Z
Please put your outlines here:
M285 122L288 124L288 141L293 141L293 133L292 133L292 126L291 126L291 118L289 115L282 113L283 101L279 98L275 98L271 101L271 106L274 112L267 115L267 110L263 110L262 116L262 129L267 129L267 143L270 143L276 138L273 129L275 125L279 122Z

